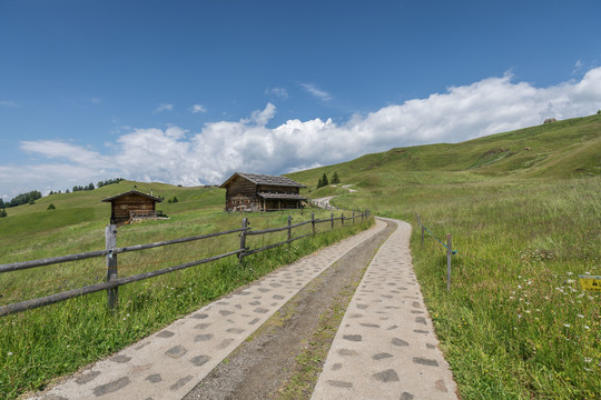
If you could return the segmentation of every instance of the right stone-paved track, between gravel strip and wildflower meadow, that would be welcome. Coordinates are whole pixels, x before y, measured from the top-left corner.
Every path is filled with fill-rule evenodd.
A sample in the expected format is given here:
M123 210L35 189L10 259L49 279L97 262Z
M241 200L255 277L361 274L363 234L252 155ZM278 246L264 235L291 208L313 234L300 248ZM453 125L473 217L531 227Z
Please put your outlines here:
M398 229L367 268L313 400L457 399L413 272L411 226L392 221Z

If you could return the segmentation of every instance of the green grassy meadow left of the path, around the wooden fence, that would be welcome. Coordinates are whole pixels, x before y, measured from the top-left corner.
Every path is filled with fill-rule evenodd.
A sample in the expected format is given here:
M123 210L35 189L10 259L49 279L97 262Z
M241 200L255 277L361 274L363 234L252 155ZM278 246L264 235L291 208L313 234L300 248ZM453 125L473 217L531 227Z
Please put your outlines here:
M136 189L154 190L167 201L157 208L169 220L118 227L117 246L187 238L240 228L248 218L255 230L329 218L331 212L307 209L303 213L230 213L223 211L224 193L218 188L178 188L161 183L124 181L93 191L52 194L35 204L7 210L0 219L0 263L65 256L105 248L105 227L110 204L101 199ZM52 203L56 209L48 210ZM0 319L0 398L17 398L42 389L52 379L111 354L159 330L228 292L247 284L302 256L366 229L373 219L355 224L336 221L317 224L318 234L277 249L248 256L244 264L236 257L193 267L119 288L119 308L107 310L107 293L97 292L52 306ZM293 236L312 231L306 224ZM247 238L252 249L286 239L286 231ZM237 233L118 256L118 274L127 277L239 248ZM106 279L106 260L88 259L0 274L0 306L58 293Z

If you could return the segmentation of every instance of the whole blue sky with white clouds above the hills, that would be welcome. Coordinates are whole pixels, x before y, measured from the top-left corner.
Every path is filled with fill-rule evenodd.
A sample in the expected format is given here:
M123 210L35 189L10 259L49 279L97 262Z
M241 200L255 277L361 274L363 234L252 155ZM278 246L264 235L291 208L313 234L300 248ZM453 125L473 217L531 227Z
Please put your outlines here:
M599 0L0 0L0 198L218 184L592 114L599 16Z

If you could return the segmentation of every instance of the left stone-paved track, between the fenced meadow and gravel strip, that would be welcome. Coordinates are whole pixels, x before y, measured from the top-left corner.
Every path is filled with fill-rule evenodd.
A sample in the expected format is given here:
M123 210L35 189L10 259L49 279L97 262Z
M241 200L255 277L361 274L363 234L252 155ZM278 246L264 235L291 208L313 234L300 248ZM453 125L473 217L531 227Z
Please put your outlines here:
M35 399L181 399L303 287L370 230L305 257L210 303Z

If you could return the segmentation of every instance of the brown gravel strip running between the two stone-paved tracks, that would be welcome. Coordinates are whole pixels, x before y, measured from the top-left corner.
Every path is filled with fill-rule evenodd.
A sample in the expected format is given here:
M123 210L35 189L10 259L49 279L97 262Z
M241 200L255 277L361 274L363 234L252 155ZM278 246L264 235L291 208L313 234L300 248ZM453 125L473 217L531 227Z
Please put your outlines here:
M277 398L279 389L290 381L297 370L297 357L305 351L309 341L315 340L316 331L323 328L323 318L334 308L344 310L347 307L370 261L395 228L391 223L322 272L185 399ZM349 294L341 299L338 293L345 289L349 289ZM334 334L327 340L327 348L333 339ZM311 391L303 394L309 398ZM295 400L300 399L298 396Z

